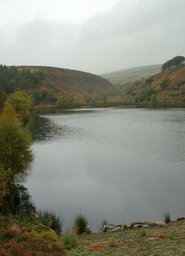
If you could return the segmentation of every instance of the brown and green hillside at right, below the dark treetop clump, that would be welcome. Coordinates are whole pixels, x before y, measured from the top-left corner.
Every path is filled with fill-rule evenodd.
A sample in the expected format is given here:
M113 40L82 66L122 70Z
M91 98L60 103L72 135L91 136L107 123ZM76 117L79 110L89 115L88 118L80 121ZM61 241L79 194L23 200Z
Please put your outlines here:
M185 65L133 83L124 90L122 100L153 104L152 95L157 105L185 106Z

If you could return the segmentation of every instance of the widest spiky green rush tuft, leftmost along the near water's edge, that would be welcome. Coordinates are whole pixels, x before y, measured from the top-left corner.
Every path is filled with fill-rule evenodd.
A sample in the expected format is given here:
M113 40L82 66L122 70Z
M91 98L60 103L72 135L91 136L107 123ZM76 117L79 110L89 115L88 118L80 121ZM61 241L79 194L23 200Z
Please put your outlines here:
M43 225L52 228L52 230L54 230L58 236L61 235L64 220L60 215L57 215L56 212L48 210L39 211L37 212L36 217Z

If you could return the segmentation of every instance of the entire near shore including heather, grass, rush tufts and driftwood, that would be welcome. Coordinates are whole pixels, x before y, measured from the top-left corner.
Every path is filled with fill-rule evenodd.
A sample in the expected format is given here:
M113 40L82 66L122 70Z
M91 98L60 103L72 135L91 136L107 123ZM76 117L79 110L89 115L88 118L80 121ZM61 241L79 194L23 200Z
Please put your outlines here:
M171 221L170 214L129 226L103 220L98 233L91 233L82 214L64 232L63 224L50 211L0 216L0 255L185 255L185 218Z

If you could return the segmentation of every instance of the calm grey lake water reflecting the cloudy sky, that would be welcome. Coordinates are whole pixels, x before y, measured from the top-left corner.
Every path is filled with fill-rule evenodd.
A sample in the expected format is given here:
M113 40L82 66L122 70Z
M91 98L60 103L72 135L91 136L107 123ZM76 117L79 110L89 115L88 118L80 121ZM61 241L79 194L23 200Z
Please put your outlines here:
M38 209L92 230L112 223L185 214L185 109L75 109L33 115Z

